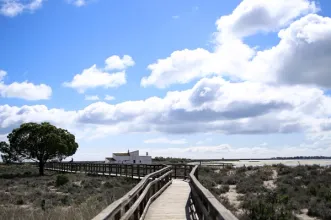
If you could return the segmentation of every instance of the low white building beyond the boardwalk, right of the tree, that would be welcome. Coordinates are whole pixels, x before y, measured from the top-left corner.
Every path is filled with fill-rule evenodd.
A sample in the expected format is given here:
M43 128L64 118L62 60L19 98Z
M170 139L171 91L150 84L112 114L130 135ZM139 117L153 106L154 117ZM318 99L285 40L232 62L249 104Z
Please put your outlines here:
M113 157L106 157L105 163L116 164L152 164L152 157L140 156L139 150L127 152L127 153L113 153Z

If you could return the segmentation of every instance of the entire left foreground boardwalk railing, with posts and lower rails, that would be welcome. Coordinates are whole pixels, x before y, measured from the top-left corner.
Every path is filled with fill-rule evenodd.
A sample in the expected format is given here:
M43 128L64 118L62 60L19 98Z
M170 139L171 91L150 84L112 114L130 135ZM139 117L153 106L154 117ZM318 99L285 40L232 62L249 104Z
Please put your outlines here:
M146 215L148 206L170 184L172 169L167 166L145 176L130 192L113 202L93 220L139 220Z

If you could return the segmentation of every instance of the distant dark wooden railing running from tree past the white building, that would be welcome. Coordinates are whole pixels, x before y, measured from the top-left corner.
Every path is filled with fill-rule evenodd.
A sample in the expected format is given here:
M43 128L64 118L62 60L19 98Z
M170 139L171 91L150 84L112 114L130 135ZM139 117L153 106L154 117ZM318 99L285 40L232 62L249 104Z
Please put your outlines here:
M45 168L58 172L88 173L105 176L124 176L141 179L165 165L161 164L97 164L97 163L46 163Z

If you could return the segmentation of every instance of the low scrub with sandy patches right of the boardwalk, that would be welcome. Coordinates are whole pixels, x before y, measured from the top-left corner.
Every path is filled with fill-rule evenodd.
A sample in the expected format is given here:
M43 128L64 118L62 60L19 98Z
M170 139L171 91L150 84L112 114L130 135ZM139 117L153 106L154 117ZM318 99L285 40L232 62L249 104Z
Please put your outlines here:
M331 219L330 167L204 167L199 179L239 219Z

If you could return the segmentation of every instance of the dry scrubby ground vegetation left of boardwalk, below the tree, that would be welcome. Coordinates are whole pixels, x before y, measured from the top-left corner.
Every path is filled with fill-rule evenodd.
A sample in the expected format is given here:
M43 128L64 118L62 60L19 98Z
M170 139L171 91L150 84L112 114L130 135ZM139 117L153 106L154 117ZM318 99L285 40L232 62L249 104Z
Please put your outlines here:
M91 219L136 182L0 164L0 219Z

